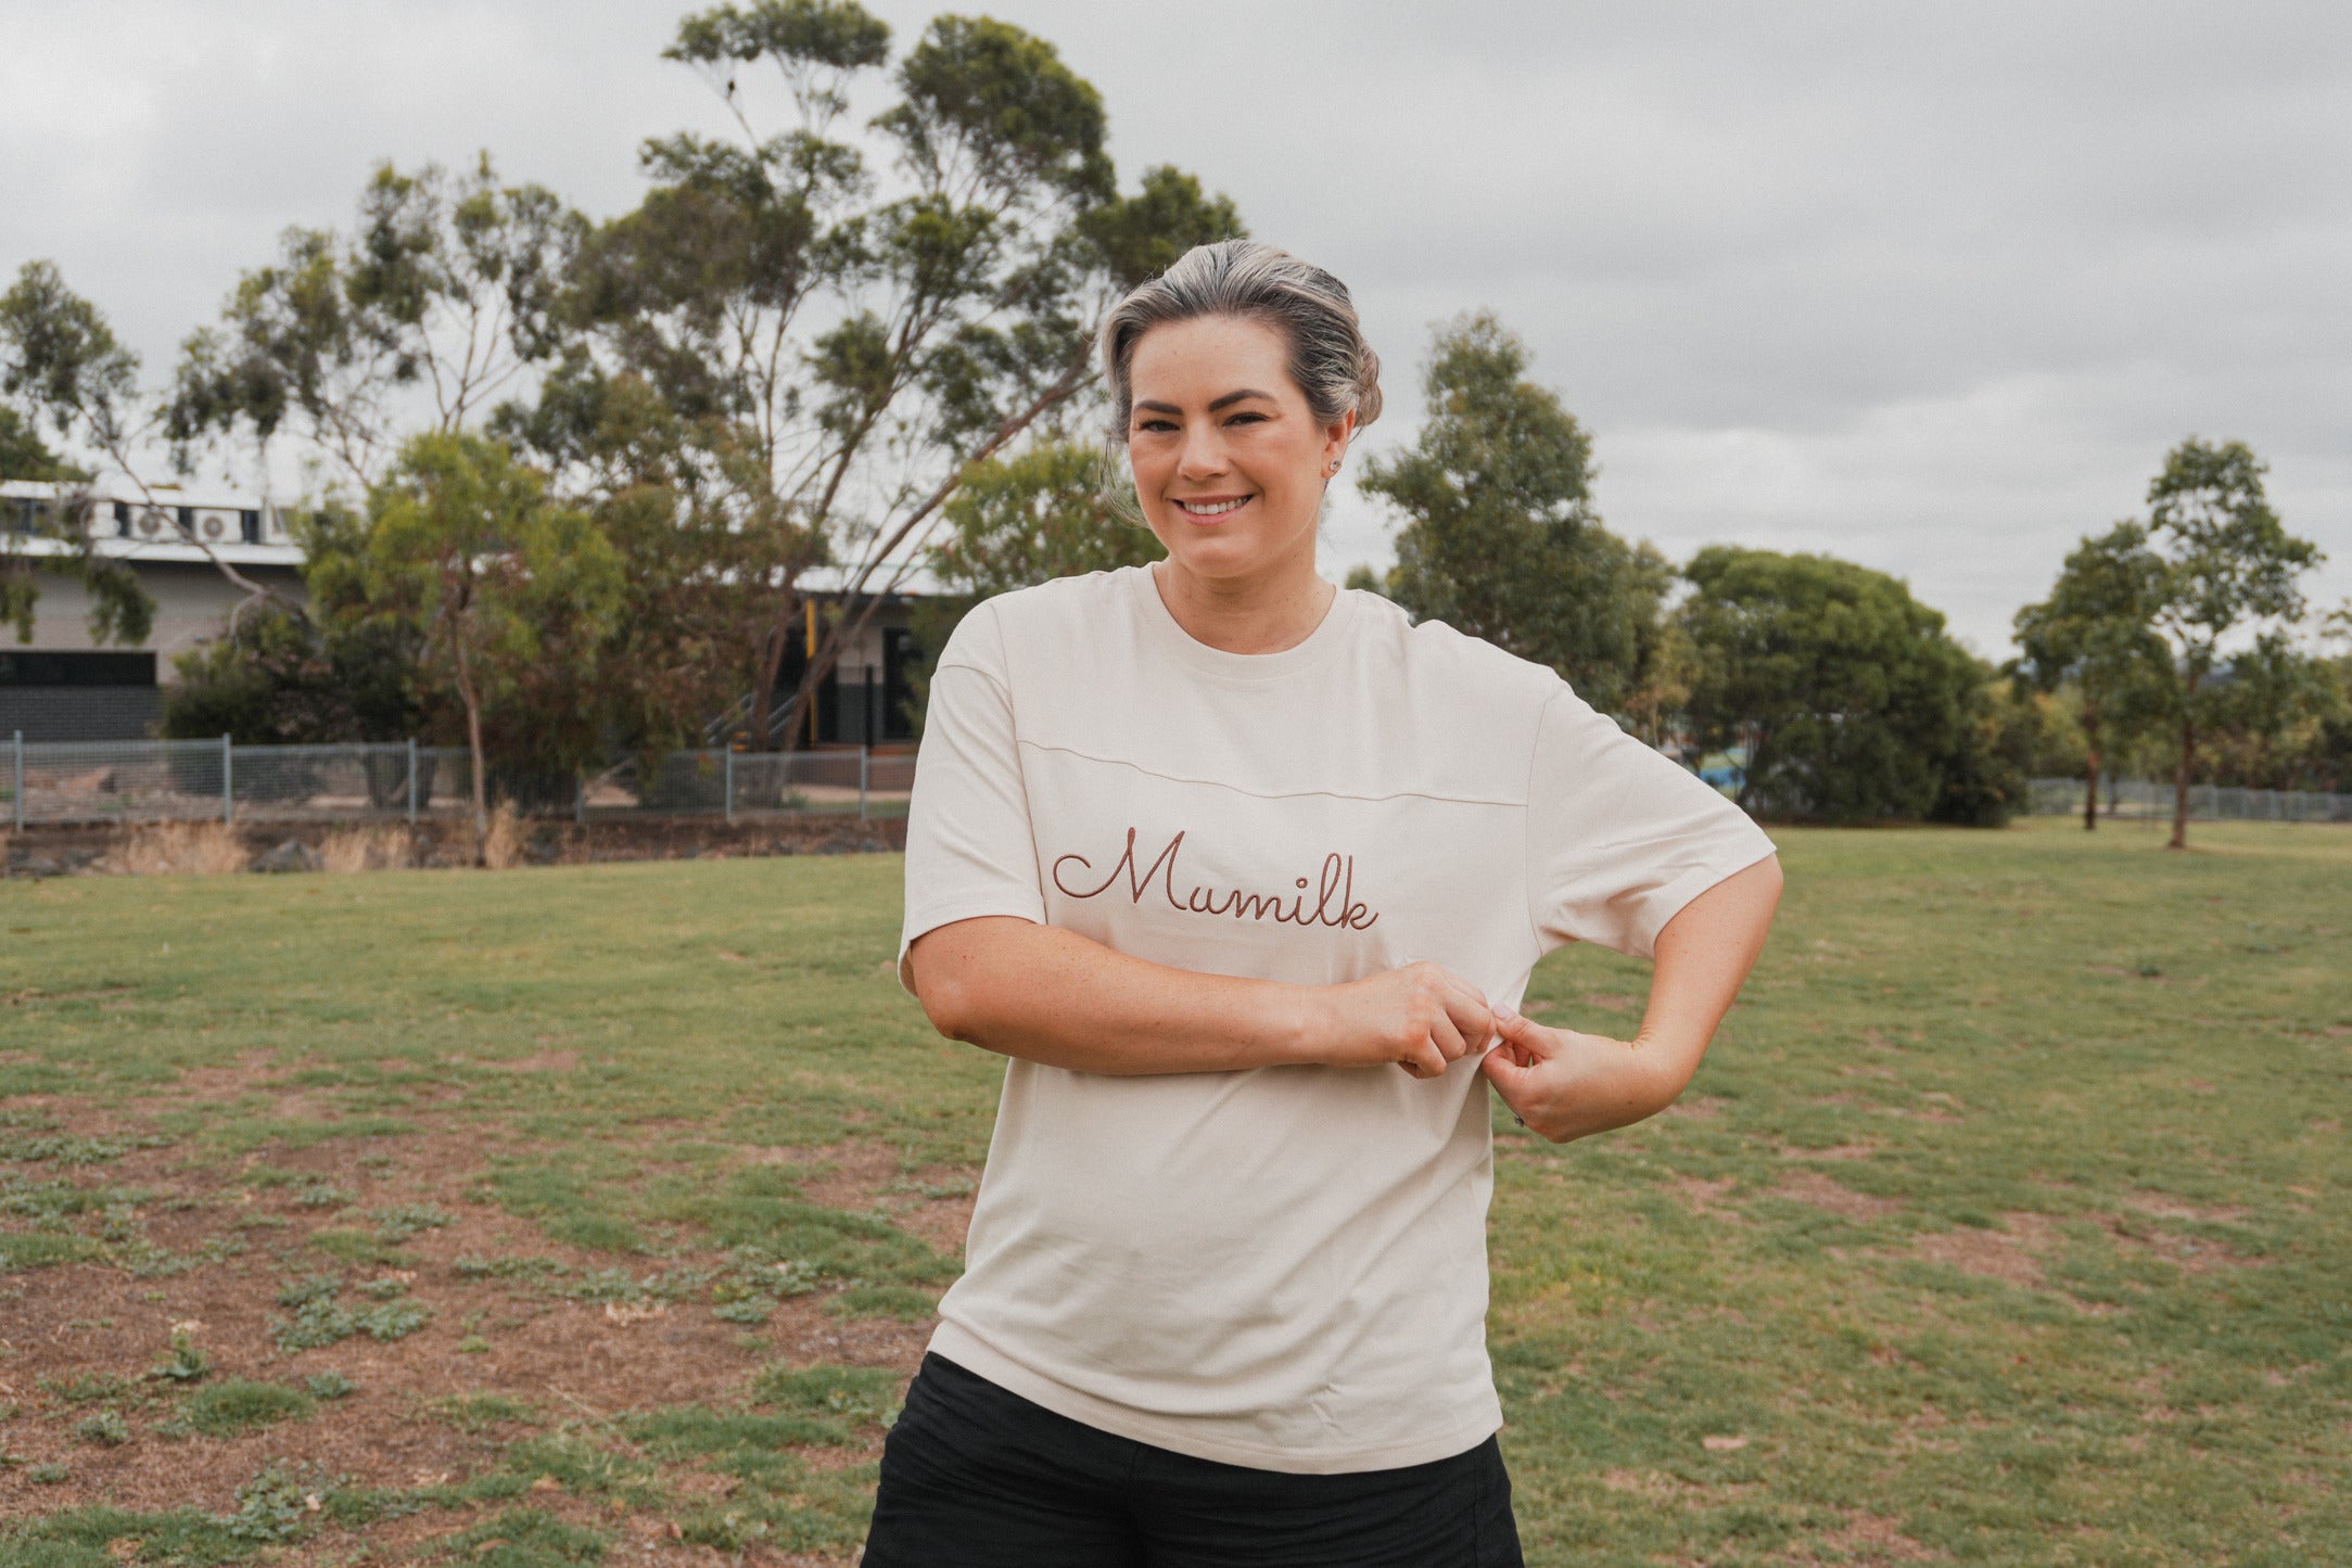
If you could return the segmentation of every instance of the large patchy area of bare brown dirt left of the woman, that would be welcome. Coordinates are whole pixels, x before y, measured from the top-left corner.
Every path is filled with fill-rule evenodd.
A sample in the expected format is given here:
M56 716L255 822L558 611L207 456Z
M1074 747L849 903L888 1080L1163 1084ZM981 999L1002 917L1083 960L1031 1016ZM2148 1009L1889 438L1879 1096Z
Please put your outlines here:
M524 1070L562 1070L569 1053L543 1053ZM515 1063L508 1063L515 1067ZM268 1086L278 1063L247 1053L233 1065L191 1070L172 1103L238 1100ZM12 1100L31 1110L26 1098ZM85 1103L49 1103L56 1133L122 1135L120 1114ZM397 1140L325 1140L308 1150L270 1147L245 1161L191 1164L183 1145L129 1150L94 1166L49 1161L12 1166L33 1182L71 1180L139 1187L151 1197L136 1220L153 1255L191 1260L179 1272L136 1276L96 1262L64 1262L9 1274L0 1293L0 1403L14 1403L7 1448L19 1465L0 1467L0 1516L54 1514L92 1502L122 1509L233 1507L238 1486L266 1460L294 1458L346 1476L348 1486L414 1488L463 1483L506 1460L524 1436L562 1427L597 1434L628 1410L689 1401L731 1403L750 1375L776 1361L793 1366L887 1368L903 1382L929 1340L927 1321L858 1319L828 1312L833 1291L786 1298L764 1324L722 1321L703 1295L680 1300L581 1300L546 1276L499 1276L487 1265L543 1260L557 1281L652 1276L663 1269L717 1269L708 1251L623 1258L553 1244L527 1220L468 1201L487 1175L485 1138L473 1128L433 1126ZM826 1197L870 1206L880 1197L920 1218L934 1246L962 1241L969 1182L931 1173L934 1190L896 1192L896 1157L880 1145L826 1150L833 1168L811 1182ZM329 1194L329 1197L320 1197ZM426 1213L440 1222L383 1241L379 1215ZM14 1229L14 1227L12 1227ZM336 1258L313 1237L341 1232L358 1253ZM212 1244L209 1262L205 1248ZM228 1255L219 1255L230 1248ZM419 1302L430 1319L379 1342L355 1333L315 1349L285 1349L275 1328L294 1316L280 1291L303 1276L334 1276L350 1309ZM623 1281L626 1284L626 1281ZM612 1307L612 1309L609 1309ZM174 1328L209 1361L205 1380L226 1378L306 1389L336 1373L353 1385L341 1399L318 1399L308 1413L247 1436L174 1436L172 1422L191 1387L153 1375ZM468 1408L503 1401L489 1418ZM115 1408L129 1441L106 1446L75 1434L101 1408ZM818 1469L875 1458L873 1446L795 1450ZM66 1479L35 1486L28 1472L64 1465ZM696 1500L703 1472L677 1469L670 1493ZM715 1483L715 1481L713 1481ZM706 1486L708 1490L708 1486ZM574 1523L619 1530L630 1561L654 1563L818 1563L753 1547L717 1554L687 1544L656 1512L614 1512L612 1497L548 1488L517 1500ZM503 1507L503 1505L499 1505ZM362 1544L402 1554L489 1519L485 1509L426 1509L369 1526L362 1535L310 1535L303 1561L341 1559Z

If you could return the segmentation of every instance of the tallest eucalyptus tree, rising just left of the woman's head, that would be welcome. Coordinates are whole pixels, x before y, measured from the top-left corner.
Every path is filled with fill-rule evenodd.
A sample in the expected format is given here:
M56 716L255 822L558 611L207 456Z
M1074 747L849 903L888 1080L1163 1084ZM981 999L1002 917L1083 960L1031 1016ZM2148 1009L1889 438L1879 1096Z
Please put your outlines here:
M1240 223L1176 169L1122 197L1096 89L1002 21L938 16L891 66L889 28L854 0L757 0L687 16L666 54L710 80L736 134L644 146L644 200L581 249L583 341L557 381L581 418L619 376L652 388L703 503L767 541L750 684L760 729L790 733L964 475L1089 383L1115 292ZM894 101L854 125L884 71ZM781 129L753 73L783 87ZM546 407L524 425L576 447ZM779 712L816 567L842 607Z

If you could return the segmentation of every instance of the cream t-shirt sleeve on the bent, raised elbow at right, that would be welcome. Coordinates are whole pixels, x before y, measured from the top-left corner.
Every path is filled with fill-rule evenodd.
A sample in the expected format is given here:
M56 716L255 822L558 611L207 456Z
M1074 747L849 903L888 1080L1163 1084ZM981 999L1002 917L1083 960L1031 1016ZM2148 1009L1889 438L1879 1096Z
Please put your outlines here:
M1545 703L1526 780L1529 917L1545 947L1651 957L1682 905L1771 853L1745 811L1573 691Z

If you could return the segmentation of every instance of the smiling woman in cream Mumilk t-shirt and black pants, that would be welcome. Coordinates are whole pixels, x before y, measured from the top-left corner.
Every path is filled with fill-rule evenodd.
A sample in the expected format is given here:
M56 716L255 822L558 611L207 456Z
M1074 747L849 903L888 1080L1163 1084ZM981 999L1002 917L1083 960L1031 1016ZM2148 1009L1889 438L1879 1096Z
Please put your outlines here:
M1329 273L1200 247L1103 369L1167 559L981 604L931 682L898 973L1011 1063L863 1561L1517 1563L1486 1086L1552 1140L1665 1110L1773 846L1550 670L1315 574L1381 409ZM1512 1011L1569 940L1656 957L1635 1041Z

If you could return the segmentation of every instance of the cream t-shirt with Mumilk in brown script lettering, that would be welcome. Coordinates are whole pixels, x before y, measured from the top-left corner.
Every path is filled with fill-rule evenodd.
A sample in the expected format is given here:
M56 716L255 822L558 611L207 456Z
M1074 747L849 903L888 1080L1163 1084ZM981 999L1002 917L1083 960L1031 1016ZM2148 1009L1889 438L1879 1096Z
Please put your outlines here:
M1150 569L974 609L931 679L906 943L981 914L1294 985L1430 959L1517 1004L1569 940L1649 954L1773 853L1541 665L1341 592L1282 654L1195 642ZM1105 1077L1014 1060L931 1349L1049 1410L1301 1474L1503 1425L1477 1060Z

